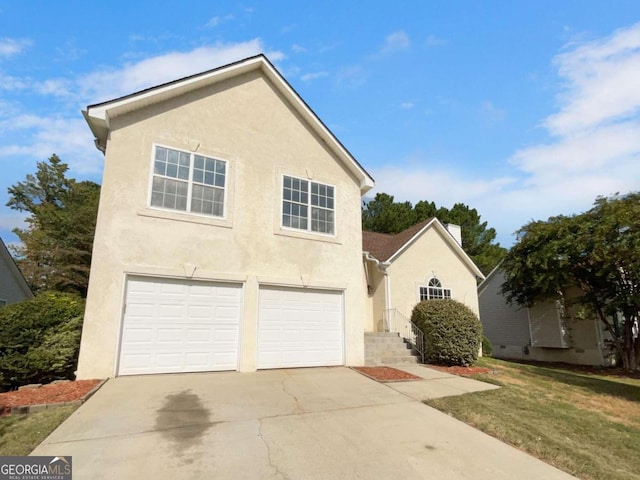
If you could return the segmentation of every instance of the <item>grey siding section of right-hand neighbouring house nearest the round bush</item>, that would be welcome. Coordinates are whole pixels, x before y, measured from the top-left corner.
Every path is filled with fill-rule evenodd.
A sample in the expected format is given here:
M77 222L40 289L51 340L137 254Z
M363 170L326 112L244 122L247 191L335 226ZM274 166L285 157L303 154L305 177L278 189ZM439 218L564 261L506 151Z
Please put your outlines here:
M507 353L500 350L521 354L522 348L530 344L527 308L511 306L507 303L500 293L503 282L502 272L493 272L482 285L478 295L480 321L495 356L503 356L501 353Z

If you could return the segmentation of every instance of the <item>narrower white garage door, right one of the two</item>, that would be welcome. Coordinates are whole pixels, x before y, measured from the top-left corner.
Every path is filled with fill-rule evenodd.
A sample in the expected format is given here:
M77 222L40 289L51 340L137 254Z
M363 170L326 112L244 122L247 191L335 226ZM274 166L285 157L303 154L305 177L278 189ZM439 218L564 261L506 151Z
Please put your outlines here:
M342 292L261 287L258 368L344 364Z

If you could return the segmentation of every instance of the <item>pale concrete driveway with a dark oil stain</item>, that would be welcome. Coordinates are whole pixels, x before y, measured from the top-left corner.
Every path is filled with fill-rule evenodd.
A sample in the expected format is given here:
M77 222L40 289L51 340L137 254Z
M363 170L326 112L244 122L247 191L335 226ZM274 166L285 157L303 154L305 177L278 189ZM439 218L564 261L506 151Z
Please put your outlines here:
M77 480L573 478L424 405L418 385L342 367L119 377L33 455L71 455Z

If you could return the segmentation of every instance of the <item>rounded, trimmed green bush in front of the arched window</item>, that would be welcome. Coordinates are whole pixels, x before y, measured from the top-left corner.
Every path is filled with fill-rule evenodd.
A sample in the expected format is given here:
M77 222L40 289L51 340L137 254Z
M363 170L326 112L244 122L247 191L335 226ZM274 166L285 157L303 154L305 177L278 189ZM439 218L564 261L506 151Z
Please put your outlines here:
M414 307L411 321L424 333L428 362L471 365L478 359L482 324L466 305L455 300L426 300Z

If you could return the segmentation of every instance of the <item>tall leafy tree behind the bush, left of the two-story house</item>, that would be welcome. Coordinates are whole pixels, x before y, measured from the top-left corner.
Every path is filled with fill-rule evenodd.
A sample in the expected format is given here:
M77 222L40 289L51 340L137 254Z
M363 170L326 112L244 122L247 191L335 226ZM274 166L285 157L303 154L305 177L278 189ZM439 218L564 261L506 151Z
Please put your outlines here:
M13 248L31 288L86 296L100 185L67 178L69 167L53 154L35 175L9 187L7 206L27 212L27 228L14 229Z

